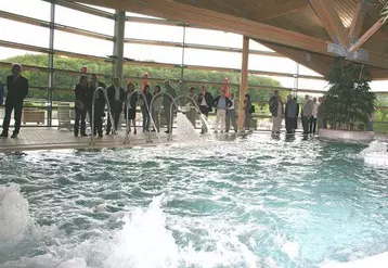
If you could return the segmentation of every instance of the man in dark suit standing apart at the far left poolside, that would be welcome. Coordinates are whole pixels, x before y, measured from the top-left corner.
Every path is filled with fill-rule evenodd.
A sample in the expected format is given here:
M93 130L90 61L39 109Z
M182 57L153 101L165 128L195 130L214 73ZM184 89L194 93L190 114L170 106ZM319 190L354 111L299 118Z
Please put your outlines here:
M12 65L12 75L7 77L7 100L5 100L5 116L2 124L2 132L0 137L7 138L8 130L10 127L11 114L14 110L15 118L15 129L11 138L17 138L18 131L21 129L22 122L22 111L23 111L23 101L28 94L28 79L21 75L22 65L13 64Z

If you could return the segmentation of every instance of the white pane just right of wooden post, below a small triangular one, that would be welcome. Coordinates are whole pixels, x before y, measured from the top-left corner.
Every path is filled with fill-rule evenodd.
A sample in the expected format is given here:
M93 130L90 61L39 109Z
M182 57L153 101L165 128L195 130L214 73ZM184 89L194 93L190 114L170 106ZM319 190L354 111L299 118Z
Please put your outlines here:
M296 62L279 56L249 55L249 69L296 74Z

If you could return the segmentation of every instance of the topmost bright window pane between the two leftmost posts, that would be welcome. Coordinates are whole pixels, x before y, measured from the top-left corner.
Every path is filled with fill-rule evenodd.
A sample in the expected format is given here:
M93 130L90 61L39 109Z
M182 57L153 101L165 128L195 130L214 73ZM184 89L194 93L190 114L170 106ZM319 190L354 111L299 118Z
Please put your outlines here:
M77 20L70 20L76 17ZM113 36L115 22L81 11L55 5L55 23Z

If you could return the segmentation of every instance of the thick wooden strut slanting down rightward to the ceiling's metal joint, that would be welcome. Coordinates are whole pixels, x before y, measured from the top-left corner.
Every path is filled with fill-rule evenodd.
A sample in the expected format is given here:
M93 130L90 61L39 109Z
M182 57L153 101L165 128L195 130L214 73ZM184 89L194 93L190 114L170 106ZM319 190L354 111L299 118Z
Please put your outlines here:
M309 0L311 8L321 20L333 42L339 42L349 48L348 31L344 27L332 0Z

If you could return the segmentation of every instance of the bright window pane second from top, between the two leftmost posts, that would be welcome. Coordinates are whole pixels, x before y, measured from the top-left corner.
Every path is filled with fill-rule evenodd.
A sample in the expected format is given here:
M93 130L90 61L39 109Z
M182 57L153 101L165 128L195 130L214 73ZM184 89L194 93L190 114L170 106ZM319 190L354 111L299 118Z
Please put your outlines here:
M113 53L113 42L55 30L54 49L88 55L107 56Z

